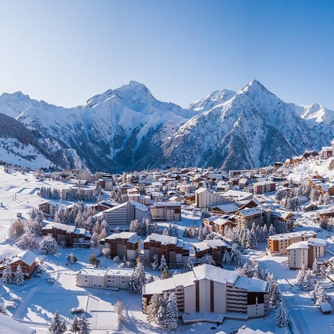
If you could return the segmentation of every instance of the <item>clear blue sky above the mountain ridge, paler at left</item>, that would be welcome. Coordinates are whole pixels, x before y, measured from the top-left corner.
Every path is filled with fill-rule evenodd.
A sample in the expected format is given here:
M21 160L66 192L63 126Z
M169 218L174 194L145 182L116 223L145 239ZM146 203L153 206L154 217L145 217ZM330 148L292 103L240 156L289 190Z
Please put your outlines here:
M334 1L0 1L0 92L71 107L136 80L186 107L257 79L334 109Z

